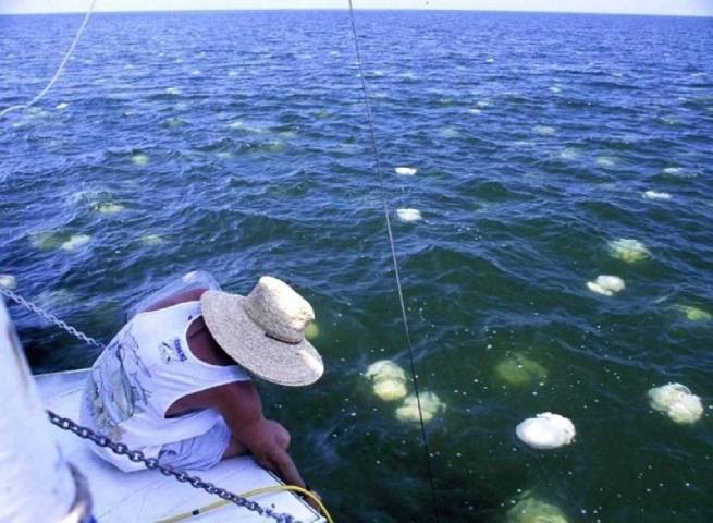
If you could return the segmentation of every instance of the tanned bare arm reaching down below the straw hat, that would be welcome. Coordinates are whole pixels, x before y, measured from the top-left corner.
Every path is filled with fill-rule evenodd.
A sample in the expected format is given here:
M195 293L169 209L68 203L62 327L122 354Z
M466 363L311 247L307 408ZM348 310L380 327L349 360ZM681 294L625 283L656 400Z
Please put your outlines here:
M278 474L287 485L305 487L287 453L290 434L279 423L265 418L255 385L241 381L219 387L216 400L233 437L247 447L258 463Z

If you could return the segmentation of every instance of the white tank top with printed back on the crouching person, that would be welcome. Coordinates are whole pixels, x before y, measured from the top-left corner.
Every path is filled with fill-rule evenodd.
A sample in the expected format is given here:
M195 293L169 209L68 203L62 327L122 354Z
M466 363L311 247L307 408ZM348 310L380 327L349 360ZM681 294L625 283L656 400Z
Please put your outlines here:
M147 458L156 458L165 443L207 433L220 419L218 410L170 418L165 412L184 396L250 377L239 365L211 365L190 352L186 332L200 315L200 302L187 302L134 316L91 367L82 423ZM123 471L143 469L107 449L91 448Z

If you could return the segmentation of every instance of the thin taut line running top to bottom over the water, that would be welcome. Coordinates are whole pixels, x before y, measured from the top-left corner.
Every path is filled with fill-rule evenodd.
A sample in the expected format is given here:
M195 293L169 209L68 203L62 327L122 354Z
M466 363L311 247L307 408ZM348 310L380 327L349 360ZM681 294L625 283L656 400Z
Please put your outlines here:
M439 511L435 503L435 486L433 484L433 471L431 470L431 453L428 448L428 438L426 437L426 424L423 423L423 412L421 411L421 398L418 389L418 378L416 377L416 365L414 364L414 346L411 343L411 336L408 328L408 318L406 316L406 305L404 303L404 291L401 284L401 276L398 272L398 258L396 257L396 246L394 243L394 233L391 229L391 218L389 217L389 203L386 200L386 190L384 187L384 177L383 170L381 167L381 155L379 153L379 147L377 145L377 133L374 130L373 118L371 113L371 102L369 100L369 89L367 88L367 82L364 75L364 66L361 64L361 51L359 49L359 39L357 37L356 23L354 21L354 5L352 0L349 2L349 21L352 22L352 35L354 37L354 47L356 50L357 65L359 68L359 78L361 80L361 90L364 93L364 105L367 111L367 119L369 121L369 135L371 137L371 149L376 160L377 173L379 174L379 187L381 192L381 202L384 211L384 218L386 219L386 232L389 233L389 245L391 246L391 258L394 266L394 276L396 278L396 289L398 291L398 302L401 304L401 316L402 321L404 323L404 330L406 332L406 343L408 345L408 361L410 364L411 378L414 380L414 392L416 393L416 403L418 405L418 419L421 425L421 439L423 440L423 451L426 453L426 466L428 469L428 481L431 488L431 502L433 504L433 515L435 521L439 522Z

